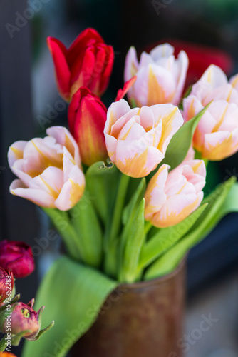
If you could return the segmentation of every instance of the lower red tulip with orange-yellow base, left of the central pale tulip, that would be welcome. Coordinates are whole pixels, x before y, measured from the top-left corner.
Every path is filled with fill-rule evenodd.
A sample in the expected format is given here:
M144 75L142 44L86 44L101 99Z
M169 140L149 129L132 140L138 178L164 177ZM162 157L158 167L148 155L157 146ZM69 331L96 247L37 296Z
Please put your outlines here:
M106 117L105 105L89 89L81 87L73 95L68 106L68 125L78 143L83 164L90 166L108 157L103 134Z

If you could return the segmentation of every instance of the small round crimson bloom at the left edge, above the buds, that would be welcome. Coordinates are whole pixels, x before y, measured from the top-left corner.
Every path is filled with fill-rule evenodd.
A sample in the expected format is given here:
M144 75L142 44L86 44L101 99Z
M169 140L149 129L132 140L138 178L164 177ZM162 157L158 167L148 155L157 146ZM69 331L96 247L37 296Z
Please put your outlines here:
M0 266L12 271L15 278L24 278L35 268L31 247L24 242L0 242Z

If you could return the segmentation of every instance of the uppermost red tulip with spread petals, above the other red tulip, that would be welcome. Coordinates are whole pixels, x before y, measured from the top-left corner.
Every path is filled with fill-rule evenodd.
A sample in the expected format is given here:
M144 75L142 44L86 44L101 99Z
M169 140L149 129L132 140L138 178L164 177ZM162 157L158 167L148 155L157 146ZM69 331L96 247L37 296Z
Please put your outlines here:
M70 101L81 86L98 96L104 93L113 69L114 52L95 29L82 31L69 49L53 37L48 37L47 43L53 57L58 91L64 99Z

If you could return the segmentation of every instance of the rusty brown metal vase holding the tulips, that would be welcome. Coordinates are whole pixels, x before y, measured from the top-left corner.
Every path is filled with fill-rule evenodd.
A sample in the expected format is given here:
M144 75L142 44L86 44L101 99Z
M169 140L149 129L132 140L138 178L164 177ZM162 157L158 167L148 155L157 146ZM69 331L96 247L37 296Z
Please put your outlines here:
M167 276L119 286L73 357L182 357L185 261Z

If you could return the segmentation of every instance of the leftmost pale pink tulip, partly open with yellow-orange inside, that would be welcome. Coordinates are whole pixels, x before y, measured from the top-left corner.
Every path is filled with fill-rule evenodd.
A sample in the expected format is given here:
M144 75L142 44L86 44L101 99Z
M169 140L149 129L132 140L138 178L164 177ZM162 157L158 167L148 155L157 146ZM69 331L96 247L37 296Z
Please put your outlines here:
M67 211L83 195L85 178L73 136L63 126L46 130L48 136L16 141L9 148L11 171L19 177L10 192L38 206Z

